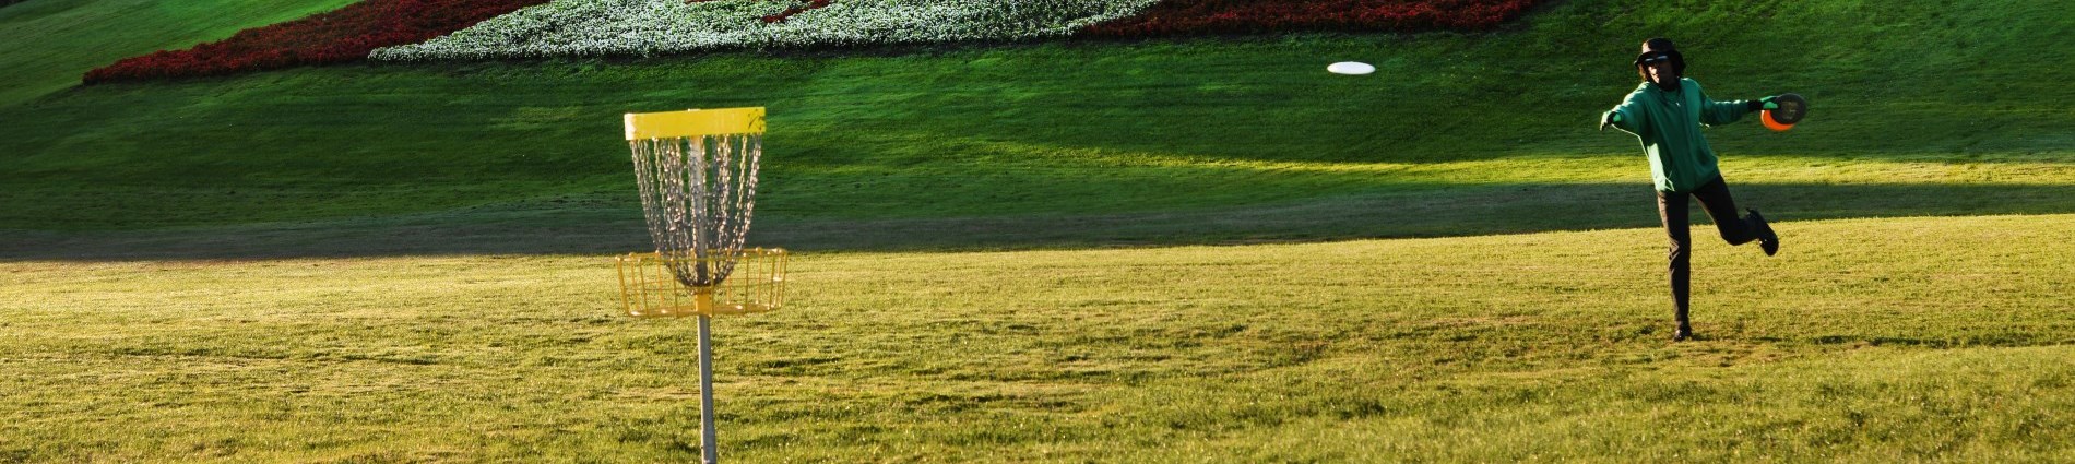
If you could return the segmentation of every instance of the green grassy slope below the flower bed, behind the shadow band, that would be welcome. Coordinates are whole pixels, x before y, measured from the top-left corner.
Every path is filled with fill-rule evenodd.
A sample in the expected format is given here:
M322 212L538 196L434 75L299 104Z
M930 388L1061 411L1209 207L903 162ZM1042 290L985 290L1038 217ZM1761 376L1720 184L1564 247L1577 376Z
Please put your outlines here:
M1731 164L1747 166L1728 176L1751 186L1753 201L1780 191L1824 203L1785 218L2075 211L2060 182L2075 147L2065 130L2071 110L2036 97L2063 95L2058 83L2075 72L2054 66L2069 62L2069 46L2036 39L2069 23L2063 8L1637 4L1562 2L1488 35L334 66L85 87L0 108L0 118L19 120L0 126L0 151L12 153L0 172L10 186L0 193L0 230L396 213L465 226L483 220L471 207L558 197L600 207L540 224L625 220L633 197L616 114L718 106L772 108L759 213L774 224L1100 222L1405 195L1486 203L1504 184L1614 199L1608 189L1643 184L1648 174L1633 137L1594 133L1592 120L1633 87L1625 62L1635 41L1658 33L1681 37L1693 75L1718 97L1801 91L1816 102L1811 122L1793 133L1753 122L1712 130ZM1832 27L1847 19L1857 27ZM1824 41L1803 46L1818 31ZM2017 46L2040 66L2013 68L2002 50ZM1336 77L1322 72L1328 60L1382 70ZM1986 197L1948 195L1936 186L1944 180L1982 184ZM1849 205L1870 191L1907 207ZM1648 226L1652 211L1598 213L1637 201L1648 203L1641 186L1619 203L1575 207L1587 220L1504 220L1533 224L1525 230ZM1370 226L1380 230L1367 236L1448 234ZM1511 230L1521 228L1461 232ZM965 244L1000 242L1017 240Z

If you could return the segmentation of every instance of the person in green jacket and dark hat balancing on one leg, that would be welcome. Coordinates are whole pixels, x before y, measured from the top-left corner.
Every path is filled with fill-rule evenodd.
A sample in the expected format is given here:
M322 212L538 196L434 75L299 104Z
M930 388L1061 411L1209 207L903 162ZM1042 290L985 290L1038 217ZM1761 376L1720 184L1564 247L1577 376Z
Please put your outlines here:
M1685 56L1670 39L1643 41L1643 52L1635 56L1635 72L1643 83L1621 106L1600 114L1600 130L1614 126L1635 135L1643 141L1643 155L1650 157L1650 180L1658 189L1658 220L1664 220L1664 234L1672 238L1672 317L1679 321L1672 342L1693 338L1693 323L1687 319L1693 273L1687 199L1699 199L1728 244L1755 240L1768 257L1780 251L1780 236L1758 209L1737 218L1737 201L1728 197L1714 149L1699 133L1702 126L1737 122L1745 114L1774 110L1778 104L1774 97L1714 102L1697 81L1685 77Z

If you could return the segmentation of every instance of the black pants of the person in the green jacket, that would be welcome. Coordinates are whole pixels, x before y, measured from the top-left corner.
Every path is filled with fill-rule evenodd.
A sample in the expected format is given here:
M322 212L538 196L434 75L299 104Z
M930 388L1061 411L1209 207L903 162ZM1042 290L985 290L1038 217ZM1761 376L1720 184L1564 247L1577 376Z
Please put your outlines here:
M1722 184L1722 178L1708 180L1691 193L1658 193L1658 220L1664 220L1664 234L1672 238L1672 315L1679 319L1679 327L1687 325L1687 300L1693 294L1693 236L1687 232L1687 197L1699 199L1728 244L1758 240L1755 224L1737 218L1737 201L1728 197L1728 184Z

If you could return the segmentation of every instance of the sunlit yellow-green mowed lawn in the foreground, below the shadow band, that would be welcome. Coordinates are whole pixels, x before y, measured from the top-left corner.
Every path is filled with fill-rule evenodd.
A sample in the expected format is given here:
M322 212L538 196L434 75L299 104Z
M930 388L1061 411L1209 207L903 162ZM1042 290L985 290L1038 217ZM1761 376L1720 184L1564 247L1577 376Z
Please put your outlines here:
M2075 215L807 253L716 323L735 462L2075 460ZM606 255L0 263L0 456L691 460Z

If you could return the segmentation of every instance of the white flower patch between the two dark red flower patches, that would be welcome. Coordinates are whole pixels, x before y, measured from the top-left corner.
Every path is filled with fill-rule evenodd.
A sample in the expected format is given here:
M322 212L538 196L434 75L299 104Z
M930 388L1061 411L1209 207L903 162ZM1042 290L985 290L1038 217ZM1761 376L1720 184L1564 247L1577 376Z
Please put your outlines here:
M1071 35L1158 0L834 0L780 23L795 0L554 0L374 60L652 56L730 48L824 48Z

